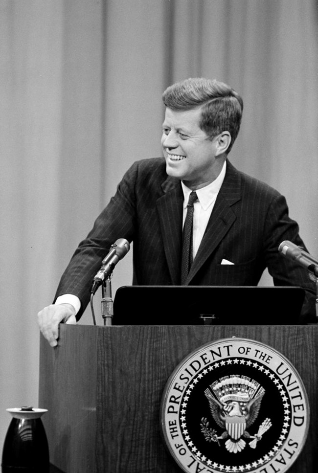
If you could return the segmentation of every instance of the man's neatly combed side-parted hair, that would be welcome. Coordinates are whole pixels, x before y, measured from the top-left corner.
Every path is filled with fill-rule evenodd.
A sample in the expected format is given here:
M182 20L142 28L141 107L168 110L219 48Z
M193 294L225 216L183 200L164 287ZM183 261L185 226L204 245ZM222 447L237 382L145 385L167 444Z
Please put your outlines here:
M215 79L190 78L168 87L162 100L171 110L202 107L200 128L212 140L224 131L231 135L229 153L238 135L243 112L240 95L224 82Z

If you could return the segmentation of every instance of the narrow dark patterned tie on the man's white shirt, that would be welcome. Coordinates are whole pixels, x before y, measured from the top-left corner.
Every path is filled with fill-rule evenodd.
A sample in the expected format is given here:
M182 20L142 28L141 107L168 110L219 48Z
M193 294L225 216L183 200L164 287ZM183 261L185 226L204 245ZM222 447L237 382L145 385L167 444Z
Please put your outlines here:
M181 285L184 285L193 260L193 203L198 200L196 192L191 192L182 232Z

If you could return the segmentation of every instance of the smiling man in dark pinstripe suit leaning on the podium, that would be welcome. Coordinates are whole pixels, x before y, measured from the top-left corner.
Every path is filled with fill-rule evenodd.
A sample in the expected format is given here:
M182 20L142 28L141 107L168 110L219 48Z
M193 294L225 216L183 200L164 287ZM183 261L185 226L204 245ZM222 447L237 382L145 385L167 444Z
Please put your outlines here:
M275 285L305 289L302 319L314 320L314 284L278 253L284 240L304 246L285 198L227 159L240 128L241 97L222 82L197 78L169 87L163 102L164 158L131 166L76 249L55 303L38 314L52 346L58 324L82 315L92 279L118 238L134 242L133 284L256 286L267 267ZM193 210L190 268L182 259L187 204Z

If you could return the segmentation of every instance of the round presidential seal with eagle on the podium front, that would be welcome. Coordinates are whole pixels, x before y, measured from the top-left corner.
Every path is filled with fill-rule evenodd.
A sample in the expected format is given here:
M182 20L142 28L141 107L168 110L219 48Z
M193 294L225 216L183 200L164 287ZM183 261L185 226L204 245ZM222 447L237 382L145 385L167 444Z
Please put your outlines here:
M200 347L172 373L161 427L184 472L283 473L306 440L307 394L276 350L226 338Z

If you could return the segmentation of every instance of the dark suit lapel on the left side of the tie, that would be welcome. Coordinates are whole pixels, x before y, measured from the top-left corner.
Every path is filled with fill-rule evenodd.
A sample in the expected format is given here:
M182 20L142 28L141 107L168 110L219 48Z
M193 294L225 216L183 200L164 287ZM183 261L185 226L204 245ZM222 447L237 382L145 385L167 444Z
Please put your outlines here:
M173 285L180 284L183 192L180 180L168 177L157 200L164 251Z

